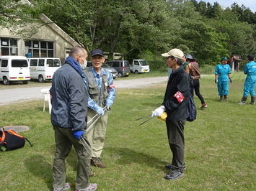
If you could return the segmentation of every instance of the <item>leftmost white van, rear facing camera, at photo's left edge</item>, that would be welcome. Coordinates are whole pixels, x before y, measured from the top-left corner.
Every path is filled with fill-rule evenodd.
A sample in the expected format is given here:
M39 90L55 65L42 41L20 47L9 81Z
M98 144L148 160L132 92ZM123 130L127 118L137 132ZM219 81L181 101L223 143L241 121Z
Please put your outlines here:
M0 56L0 81L9 85L10 81L22 81L27 84L30 80L30 67L27 57Z

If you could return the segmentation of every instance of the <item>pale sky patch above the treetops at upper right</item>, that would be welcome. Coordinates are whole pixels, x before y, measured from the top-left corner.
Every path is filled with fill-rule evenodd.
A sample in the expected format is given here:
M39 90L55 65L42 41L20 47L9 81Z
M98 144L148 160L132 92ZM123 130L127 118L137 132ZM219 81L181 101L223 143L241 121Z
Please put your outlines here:
M200 2L200 0L197 0L198 2ZM205 0L203 0L205 1ZM218 2L221 7L223 7L224 9L228 6L231 6L231 4L234 4L234 2L236 2L239 6L242 6L242 4L244 4L244 6L248 7L249 9L251 9L252 12L256 12L256 1L255 0L208 0L205 1L206 3L211 3L214 4L214 2Z

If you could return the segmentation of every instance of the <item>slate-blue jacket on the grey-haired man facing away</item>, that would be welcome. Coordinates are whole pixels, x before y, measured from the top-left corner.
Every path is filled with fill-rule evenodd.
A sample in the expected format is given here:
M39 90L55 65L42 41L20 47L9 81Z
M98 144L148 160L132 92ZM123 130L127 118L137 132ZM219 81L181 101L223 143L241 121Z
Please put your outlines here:
M80 67L79 63L75 61L74 63L76 67L66 62L53 75L50 88L52 96L50 121L53 126L81 131L87 128L85 118L89 95L84 87L84 73L77 70Z

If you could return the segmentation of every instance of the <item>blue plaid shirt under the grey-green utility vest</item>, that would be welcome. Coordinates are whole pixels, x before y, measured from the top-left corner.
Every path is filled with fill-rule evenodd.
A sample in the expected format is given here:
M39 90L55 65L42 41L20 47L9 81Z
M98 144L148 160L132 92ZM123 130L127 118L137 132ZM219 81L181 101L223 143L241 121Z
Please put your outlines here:
M98 88L99 90L101 90L102 88L102 75L107 75L107 99L110 99L112 101L115 100L115 85L114 85L114 82L113 82L113 78L112 78L112 75L109 71L107 70L102 70L102 67L101 67L101 73L98 74L93 67L91 67L91 70L92 70L92 74L94 76L94 79L98 85ZM87 88L88 87L88 84L87 84L87 78L83 78L84 79L84 83L85 83L85 87ZM99 107L99 105L92 100L92 98L90 98L89 96L89 99L88 99L88 107L89 108L92 108L93 110L97 109Z

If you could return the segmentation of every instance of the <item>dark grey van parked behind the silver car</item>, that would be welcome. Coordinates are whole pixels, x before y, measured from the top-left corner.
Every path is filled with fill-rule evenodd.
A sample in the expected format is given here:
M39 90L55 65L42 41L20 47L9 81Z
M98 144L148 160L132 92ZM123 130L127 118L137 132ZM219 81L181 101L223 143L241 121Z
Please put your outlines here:
M118 71L118 77L129 76L131 73L128 60L111 60L106 62L110 67Z

